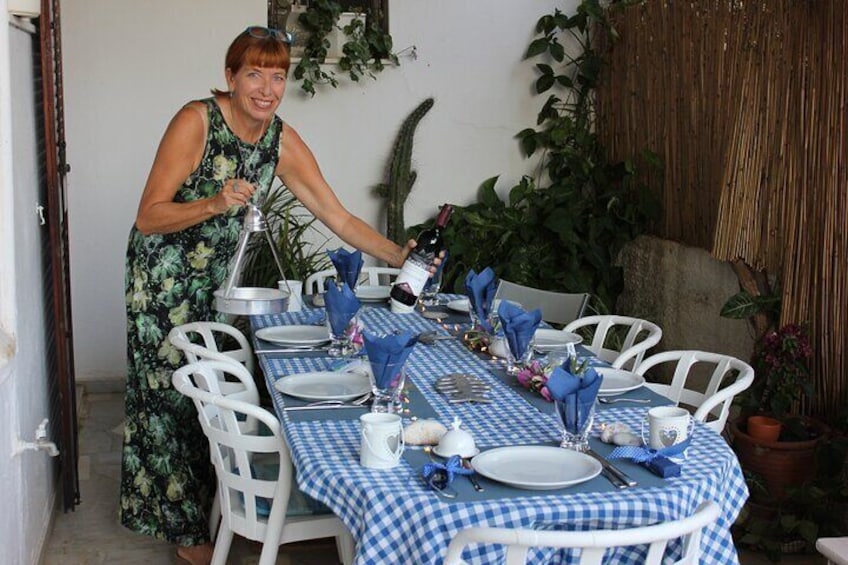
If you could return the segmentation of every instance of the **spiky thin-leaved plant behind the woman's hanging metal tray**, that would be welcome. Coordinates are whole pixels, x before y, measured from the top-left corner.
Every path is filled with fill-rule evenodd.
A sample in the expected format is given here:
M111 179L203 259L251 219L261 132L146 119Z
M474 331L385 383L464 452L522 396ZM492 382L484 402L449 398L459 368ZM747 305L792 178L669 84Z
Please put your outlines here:
M320 237L313 225L315 217L285 185L271 188L261 209L286 278L305 280L315 271L329 268L330 260L323 246L312 243L313 238ZM326 243L326 238L319 243ZM252 234L242 273L243 286L277 288L280 273L263 234Z

